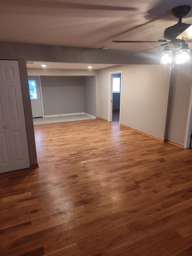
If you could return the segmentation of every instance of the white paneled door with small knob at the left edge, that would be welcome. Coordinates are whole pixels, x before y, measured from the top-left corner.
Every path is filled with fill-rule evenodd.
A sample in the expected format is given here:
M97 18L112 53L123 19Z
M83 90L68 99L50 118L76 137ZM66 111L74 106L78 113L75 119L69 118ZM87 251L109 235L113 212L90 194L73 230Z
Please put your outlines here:
M18 61L0 60L0 173L29 167Z

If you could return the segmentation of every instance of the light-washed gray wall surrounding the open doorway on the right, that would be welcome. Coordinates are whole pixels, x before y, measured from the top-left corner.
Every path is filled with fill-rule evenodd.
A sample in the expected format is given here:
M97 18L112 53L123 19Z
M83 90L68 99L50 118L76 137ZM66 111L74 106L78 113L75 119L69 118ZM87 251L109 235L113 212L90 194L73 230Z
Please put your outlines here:
M109 72L120 70L120 123L164 139L170 82L170 68L166 65L123 65L99 70L97 116L108 118Z

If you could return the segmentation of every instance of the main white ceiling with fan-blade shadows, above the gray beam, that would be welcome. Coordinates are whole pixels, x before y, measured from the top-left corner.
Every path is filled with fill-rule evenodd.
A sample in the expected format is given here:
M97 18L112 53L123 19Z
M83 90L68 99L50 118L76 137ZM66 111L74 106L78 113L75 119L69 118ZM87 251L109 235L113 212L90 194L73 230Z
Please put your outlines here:
M178 20L171 9L191 0L0 0L0 41L114 50L146 50ZM183 19L192 23L192 11ZM159 48L157 48L159 49ZM152 50L153 51L153 50Z

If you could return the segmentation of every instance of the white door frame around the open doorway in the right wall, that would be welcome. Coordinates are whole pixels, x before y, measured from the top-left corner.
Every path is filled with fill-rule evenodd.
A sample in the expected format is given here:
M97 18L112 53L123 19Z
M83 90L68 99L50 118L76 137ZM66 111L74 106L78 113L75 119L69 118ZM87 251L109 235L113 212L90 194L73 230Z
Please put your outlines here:
M112 122L112 114L113 114L113 74L121 74L121 80L120 80L120 111L119 111L119 124L120 124L122 71L109 72L108 122Z

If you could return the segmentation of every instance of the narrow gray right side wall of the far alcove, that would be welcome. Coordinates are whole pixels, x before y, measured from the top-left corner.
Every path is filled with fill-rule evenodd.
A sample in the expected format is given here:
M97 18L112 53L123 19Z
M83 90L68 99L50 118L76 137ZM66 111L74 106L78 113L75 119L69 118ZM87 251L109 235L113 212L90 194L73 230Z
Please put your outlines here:
M84 77L84 112L96 116L96 77Z

